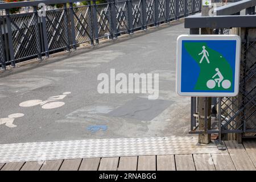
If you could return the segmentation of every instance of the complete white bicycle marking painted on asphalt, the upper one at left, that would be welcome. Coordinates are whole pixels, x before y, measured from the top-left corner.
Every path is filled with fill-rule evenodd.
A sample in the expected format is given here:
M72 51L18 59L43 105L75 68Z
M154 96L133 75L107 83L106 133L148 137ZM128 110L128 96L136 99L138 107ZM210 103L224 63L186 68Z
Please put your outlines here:
M55 109L57 107L61 107L65 104L65 102L59 102L58 100L63 100L68 94L71 92L64 92L59 96L49 97L46 101L42 100L30 100L25 101L19 104L20 107L32 107L36 105L42 106L43 109Z

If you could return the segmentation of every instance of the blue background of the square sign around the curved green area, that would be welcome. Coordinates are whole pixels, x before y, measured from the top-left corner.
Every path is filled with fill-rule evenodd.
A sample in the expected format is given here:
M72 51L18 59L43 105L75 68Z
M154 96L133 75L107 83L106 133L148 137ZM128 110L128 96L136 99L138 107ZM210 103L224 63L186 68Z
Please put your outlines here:
M206 43L210 49L224 56L232 68L234 78L236 67L236 40L183 40L181 50L181 92L216 92L216 90L195 90L200 67L185 49L184 43L189 42ZM232 82L232 87L232 92L234 92L234 81ZM217 92L230 92L230 90L218 90Z

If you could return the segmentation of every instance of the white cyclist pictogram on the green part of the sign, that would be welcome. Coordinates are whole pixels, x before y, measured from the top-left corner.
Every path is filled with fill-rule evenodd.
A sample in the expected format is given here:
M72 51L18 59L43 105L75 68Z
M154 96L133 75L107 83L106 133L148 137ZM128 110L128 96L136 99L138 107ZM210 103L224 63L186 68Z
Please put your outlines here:
M218 84L218 87L222 86L224 89L228 89L231 86L231 82L229 80L224 80L223 75L221 74L220 70L218 68L215 69L217 72L215 75L213 75L214 80L208 80L207 81L207 87L209 89L213 89L216 86L216 83ZM218 78L214 78L218 76Z

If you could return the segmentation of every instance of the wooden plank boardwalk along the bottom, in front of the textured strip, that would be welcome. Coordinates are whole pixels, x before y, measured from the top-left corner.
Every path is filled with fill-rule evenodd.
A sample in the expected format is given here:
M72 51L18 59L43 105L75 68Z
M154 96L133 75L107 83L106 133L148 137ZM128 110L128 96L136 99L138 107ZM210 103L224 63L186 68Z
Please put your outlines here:
M0 164L1 171L225 171L256 170L256 140L226 141L221 154L127 156Z

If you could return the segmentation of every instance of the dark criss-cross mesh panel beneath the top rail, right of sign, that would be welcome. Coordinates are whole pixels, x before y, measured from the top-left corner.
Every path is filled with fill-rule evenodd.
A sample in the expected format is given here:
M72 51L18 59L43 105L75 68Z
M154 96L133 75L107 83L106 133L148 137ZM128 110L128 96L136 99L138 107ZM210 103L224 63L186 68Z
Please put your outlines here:
M230 34L224 28L220 34ZM249 31L246 32L249 34ZM256 134L256 42L242 38L240 63L240 91L236 97L225 97L221 102L221 126L227 133Z

